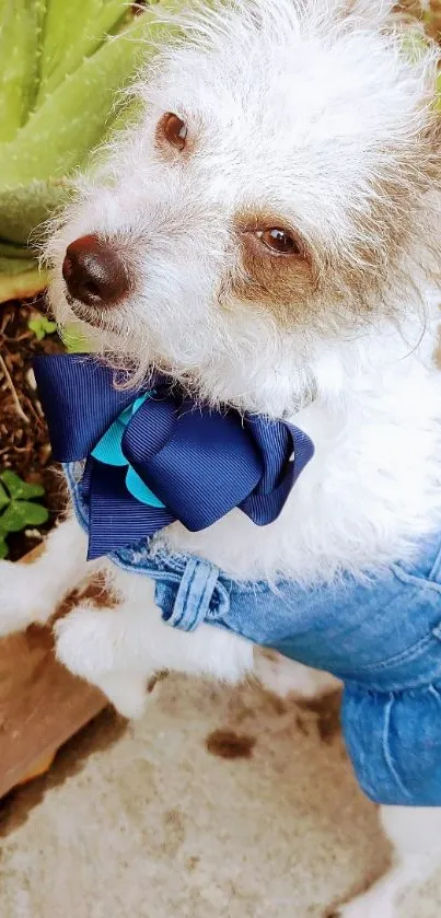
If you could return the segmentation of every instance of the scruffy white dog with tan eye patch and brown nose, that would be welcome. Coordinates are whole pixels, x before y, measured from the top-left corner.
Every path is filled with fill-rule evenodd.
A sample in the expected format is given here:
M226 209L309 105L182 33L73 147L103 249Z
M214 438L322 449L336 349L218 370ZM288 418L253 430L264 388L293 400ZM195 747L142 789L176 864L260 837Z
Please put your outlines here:
M161 534L237 579L361 577L440 528L438 57L391 8L231 0L188 13L185 39L136 86L139 125L81 181L50 240L59 322L74 314L135 381L159 368L314 441L277 522L233 511ZM121 712L141 713L158 670L253 671L246 640L169 628L149 579L104 568L119 607L81 604L58 623L57 653ZM89 569L73 519L34 566L3 561L0 631L47 621ZM282 672L304 697L333 683ZM403 886L441 860L441 809L385 806L382 823L396 865L345 918L391 918Z

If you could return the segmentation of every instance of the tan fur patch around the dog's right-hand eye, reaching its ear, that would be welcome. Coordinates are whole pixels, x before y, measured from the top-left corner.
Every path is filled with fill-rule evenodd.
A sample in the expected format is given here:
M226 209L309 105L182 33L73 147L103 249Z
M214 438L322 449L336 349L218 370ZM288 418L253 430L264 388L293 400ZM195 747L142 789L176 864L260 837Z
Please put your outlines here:
M441 120L430 90L420 104L419 129L392 139L387 155L379 151L376 174L360 177L362 206L355 191L341 229L330 228L334 236L326 243L311 239L302 255L272 255L255 232L287 220L265 212L237 214L237 268L222 291L225 305L230 293L233 303L239 299L268 311L282 327L329 334L364 325L380 311L394 317L408 293L415 301L415 264L428 277L441 271L439 201L433 199L441 188Z

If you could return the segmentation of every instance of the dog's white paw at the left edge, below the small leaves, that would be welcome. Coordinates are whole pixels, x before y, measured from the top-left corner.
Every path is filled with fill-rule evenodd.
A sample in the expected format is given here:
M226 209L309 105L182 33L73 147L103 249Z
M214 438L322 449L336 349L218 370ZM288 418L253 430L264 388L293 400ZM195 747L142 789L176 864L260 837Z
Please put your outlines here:
M44 625L55 609L45 597L45 584L38 583L32 565L0 561L0 636L27 628L33 621Z

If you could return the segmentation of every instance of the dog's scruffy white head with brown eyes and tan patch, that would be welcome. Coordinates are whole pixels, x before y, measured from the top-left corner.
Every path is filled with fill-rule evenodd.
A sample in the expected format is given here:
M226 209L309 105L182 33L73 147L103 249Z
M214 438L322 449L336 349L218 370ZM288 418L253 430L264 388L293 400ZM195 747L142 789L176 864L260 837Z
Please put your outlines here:
M416 307L432 267L436 53L406 45L386 5L189 14L139 83L138 126L50 241L60 321L73 313L138 376L161 367L279 414L321 348Z

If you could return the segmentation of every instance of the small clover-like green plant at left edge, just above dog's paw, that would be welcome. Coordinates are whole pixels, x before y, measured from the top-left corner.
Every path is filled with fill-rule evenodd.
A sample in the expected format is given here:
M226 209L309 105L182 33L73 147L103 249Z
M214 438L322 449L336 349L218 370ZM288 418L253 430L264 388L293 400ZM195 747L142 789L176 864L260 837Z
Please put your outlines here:
M9 468L0 474L0 558L9 554L9 533L47 522L49 514L46 507L35 501L44 493L42 485L28 485Z

